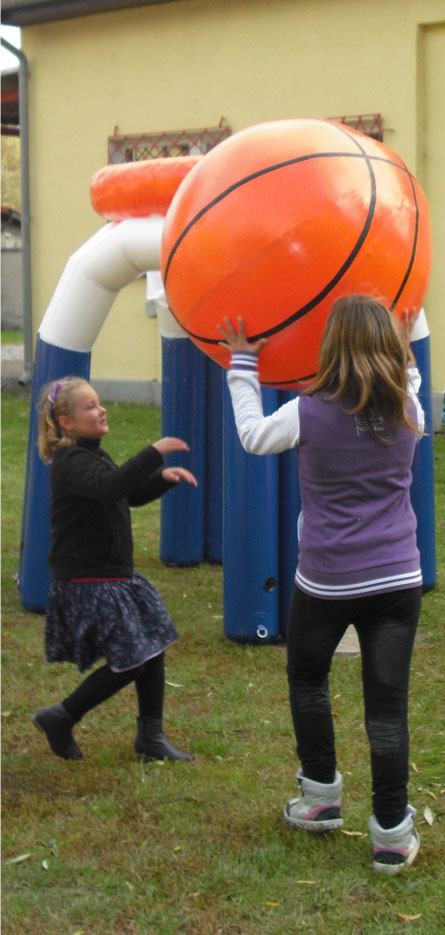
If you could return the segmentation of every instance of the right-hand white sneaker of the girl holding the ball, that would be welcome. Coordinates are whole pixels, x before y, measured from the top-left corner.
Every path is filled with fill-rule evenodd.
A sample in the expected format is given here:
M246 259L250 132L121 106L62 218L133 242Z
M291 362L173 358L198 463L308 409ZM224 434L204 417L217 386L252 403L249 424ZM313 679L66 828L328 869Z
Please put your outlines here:
M407 805L405 817L394 828L381 828L376 817L371 815L371 832L374 870L380 873L400 873L411 866L419 850L420 838L414 827L416 809Z

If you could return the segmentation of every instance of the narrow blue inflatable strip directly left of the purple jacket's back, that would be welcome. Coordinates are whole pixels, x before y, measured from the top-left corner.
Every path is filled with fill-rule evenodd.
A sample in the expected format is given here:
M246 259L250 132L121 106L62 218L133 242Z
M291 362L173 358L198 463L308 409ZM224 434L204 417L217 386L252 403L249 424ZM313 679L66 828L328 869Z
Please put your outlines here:
M295 399L292 390L280 390L279 405ZM296 448L283 451L279 462L279 627L286 638L287 616L294 586L295 569L298 562L298 517L301 510L300 484L298 480L298 452Z

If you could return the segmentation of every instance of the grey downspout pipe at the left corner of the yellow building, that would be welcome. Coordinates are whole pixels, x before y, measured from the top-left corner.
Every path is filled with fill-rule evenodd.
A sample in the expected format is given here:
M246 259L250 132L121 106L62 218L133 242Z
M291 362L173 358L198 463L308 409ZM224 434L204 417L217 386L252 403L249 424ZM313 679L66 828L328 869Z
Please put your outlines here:
M26 386L32 377L32 299L31 299L31 238L29 209L29 131L28 131L28 62L20 49L2 37L2 46L19 60L19 126L20 126L20 188L22 198L22 284L23 284L23 357L24 369L19 386Z

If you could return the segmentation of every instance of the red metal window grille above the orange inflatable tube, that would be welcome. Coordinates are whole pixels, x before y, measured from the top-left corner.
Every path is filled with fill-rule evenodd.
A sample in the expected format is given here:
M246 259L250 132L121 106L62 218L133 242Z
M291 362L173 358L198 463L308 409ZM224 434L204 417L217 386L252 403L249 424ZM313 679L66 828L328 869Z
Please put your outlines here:
M115 128L108 137L108 162L138 162L141 159L160 159L165 156L195 156L208 153L232 133L221 118L217 127L200 130L163 130L160 133L134 133L121 135Z

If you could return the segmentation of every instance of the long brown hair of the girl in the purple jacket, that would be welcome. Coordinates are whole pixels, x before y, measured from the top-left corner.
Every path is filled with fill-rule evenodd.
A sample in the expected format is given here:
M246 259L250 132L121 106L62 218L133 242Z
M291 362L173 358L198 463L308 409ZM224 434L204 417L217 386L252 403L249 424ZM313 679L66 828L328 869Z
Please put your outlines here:
M384 303L367 295L345 296L329 312L317 376L306 392L341 400L345 412L363 412L370 426L374 414L384 413L388 425L416 431L406 411L409 362L408 342Z

